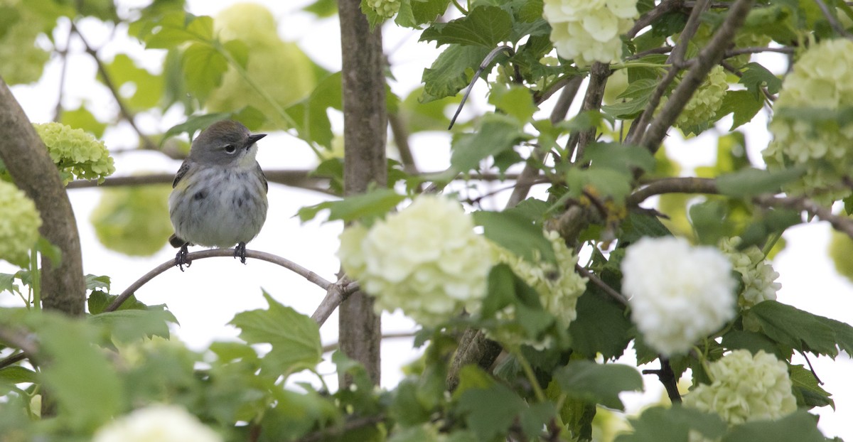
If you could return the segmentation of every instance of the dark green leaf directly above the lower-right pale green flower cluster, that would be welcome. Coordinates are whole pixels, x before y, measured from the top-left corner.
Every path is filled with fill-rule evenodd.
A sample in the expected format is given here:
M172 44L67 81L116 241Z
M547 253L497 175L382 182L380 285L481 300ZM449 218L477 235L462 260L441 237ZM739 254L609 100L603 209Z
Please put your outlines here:
M832 358L838 355L836 334L827 317L775 300L759 302L744 316L756 322L763 334L780 345Z

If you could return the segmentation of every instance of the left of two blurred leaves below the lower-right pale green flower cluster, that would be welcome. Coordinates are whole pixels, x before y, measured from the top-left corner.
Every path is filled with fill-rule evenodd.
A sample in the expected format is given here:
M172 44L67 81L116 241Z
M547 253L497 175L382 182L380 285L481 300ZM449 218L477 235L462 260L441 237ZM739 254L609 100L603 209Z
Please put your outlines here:
M616 442L659 442L661 440L688 440L691 429L705 439L719 439L726 431L726 423L716 414L673 405L669 408L653 407L631 419L634 433L620 434Z

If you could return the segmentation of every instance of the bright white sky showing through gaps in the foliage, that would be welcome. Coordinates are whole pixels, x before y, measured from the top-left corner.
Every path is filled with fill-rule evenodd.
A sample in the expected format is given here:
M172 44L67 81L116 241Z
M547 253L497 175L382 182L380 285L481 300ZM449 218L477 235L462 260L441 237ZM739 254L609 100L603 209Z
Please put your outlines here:
M132 0L119 2L122 7L147 4L147 1ZM194 15L216 15L233 2L229 1L188 1L189 12ZM322 67L330 71L340 68L339 25L336 18L316 20L313 15L299 9L310 0L289 0L257 2L273 11L279 23L282 38L295 41L299 47ZM61 27L67 29L67 24ZM105 60L111 60L117 53L128 53L145 67L159 72L160 60L154 51L143 53L141 46L126 38L125 30L114 34L107 26L96 20L83 20L80 29ZM418 43L419 32L386 26L383 30L386 54L391 62L393 81L392 90L398 96L406 96L410 90L420 84L421 73L428 67L438 51L433 44ZM57 32L59 36L67 31ZM112 115L116 108L107 90L95 81L96 67L88 55L85 55L78 41L73 40L72 55L66 79L65 108L77 108L81 102L94 103L90 110L102 118ZM764 61L764 60L762 60ZM778 61L775 66L784 68ZM44 77L38 84L15 86L13 92L34 122L52 119L55 101L58 96L60 65L51 61ZM581 91L583 93L583 90ZM473 91L463 115L483 112L485 108L486 88L482 82ZM579 95L579 96L582 96ZM547 106L547 105L546 105ZM577 108L577 103L576 103ZM98 113L103 109L102 113ZM543 111L543 112L547 112ZM340 130L339 116L334 116L334 126ZM730 121L730 119L728 119ZM140 115L138 125L143 131L165 131L172 125L183 122L180 112L167 113L164 119ZM728 128L724 120L721 127ZM714 162L717 143L713 134L708 133L688 142L671 137L667 142L670 155L676 157L686 172L693 166L710 165ZM122 124L107 131L104 137L110 148L125 148L136 143L136 134ZM417 134L412 137L415 160L421 170L438 171L449 165L450 135L448 133ZM760 161L759 151L767 145L766 116L760 114L747 129L747 142L753 160ZM271 135L258 143L258 162L264 169L305 169L316 165L314 154L305 143L285 135ZM114 155L116 176L130 175L134 172L176 172L177 160L169 160L156 152L131 152ZM496 184L500 185L500 184ZM74 212L77 215L78 229L83 247L84 271L113 278L112 292L118 294L131 282L142 276L155 265L172 259L175 250L164 247L154 257L139 259L114 253L102 247L97 241L94 229L89 222L92 209L96 206L100 190L74 189L69 191ZM270 184L270 212L264 230L249 248L275 253L291 259L309 270L313 270L330 281L338 270L338 260L334 253L338 247L337 236L341 224L322 224L312 221L300 224L293 218L299 207L314 205L325 201L325 195L300 189L287 188L279 184ZM502 206L506 194L498 195L494 208ZM322 217L321 217L322 218ZM845 323L853 323L853 309L850 309L850 297L853 286L839 277L833 263L827 258L827 244L830 228L826 223L813 223L798 226L786 232L787 247L776 257L774 266L780 276L783 288L779 299L787 304L832 317ZM0 271L14 271L9 265L0 263ZM322 300L324 293L310 282L295 274L282 270L276 265L250 259L248 265L240 265L233 259L202 259L194 262L185 272L169 270L136 292L142 302L167 304L175 314L180 327L173 329L173 335L187 342L194 349L205 348L212 340L233 339L237 330L227 325L235 313L264 308L265 301L261 288L269 292L276 300L291 305L297 311L310 315ZM0 298L3 305L12 305L9 298ZM400 314L384 315L385 333L407 332L415 329L415 324ZM330 317L323 326L324 344L337 340L337 314ZM411 339L392 339L383 343L382 349L382 386L392 388L401 379L399 367L415 359L420 352L412 349ZM633 352L629 351L625 363L631 363ZM802 363L802 360L799 361ZM844 354L836 361L829 358L811 358L817 375L825 382L824 388L834 393L836 408L824 407L818 410L821 415L821 429L829 436L853 439L853 427L846 416L853 416L853 387L848 379L853 372L853 363ZM321 371L334 387L334 366L331 363L321 365ZM657 401L663 394L663 388L653 376L645 376L647 392L644 394L624 395L632 410L644 403ZM299 375L300 380L311 381L313 375Z

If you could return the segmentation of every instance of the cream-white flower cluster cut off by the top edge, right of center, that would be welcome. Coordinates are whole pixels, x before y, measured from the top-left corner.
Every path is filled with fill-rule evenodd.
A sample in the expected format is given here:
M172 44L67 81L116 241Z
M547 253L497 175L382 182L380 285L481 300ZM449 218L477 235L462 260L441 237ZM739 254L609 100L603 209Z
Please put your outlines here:
M636 0L544 0L543 15L551 25L557 54L577 66L622 58L621 34L639 16Z

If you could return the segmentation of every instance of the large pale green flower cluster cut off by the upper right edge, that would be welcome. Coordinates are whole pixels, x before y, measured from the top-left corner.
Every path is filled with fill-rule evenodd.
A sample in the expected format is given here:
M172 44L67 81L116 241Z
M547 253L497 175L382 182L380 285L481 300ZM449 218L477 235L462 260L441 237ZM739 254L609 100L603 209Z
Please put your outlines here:
M793 72L782 83L770 121L773 141L764 150L771 171L792 165L805 165L806 172L786 191L809 195L814 189L827 189L841 183L853 170L853 124L813 122L796 115L780 115L782 109L820 114L834 112L853 102L853 42L848 39L824 40L810 47L794 64ZM829 204L849 194L836 189L812 195Z

